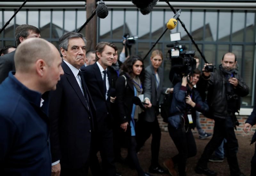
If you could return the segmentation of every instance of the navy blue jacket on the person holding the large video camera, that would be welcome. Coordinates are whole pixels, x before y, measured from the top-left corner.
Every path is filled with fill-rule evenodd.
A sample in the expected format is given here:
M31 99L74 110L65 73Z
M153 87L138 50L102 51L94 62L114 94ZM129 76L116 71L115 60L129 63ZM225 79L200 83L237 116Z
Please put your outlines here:
M187 95L187 91L190 92L190 95L192 95L192 100L193 102L196 103L196 106L194 108L192 108L190 105L188 105L185 102L185 98ZM177 83L174 86L173 89L173 98L172 98L172 105L171 105L171 109L170 109L170 113L171 116L168 117L168 122L171 124L171 126L173 128L181 128L183 126L183 122L181 121L180 116L183 115L184 111L186 111L187 109L192 108L192 117L193 117L193 122L195 124L195 116L193 116L193 112L195 110L199 111L199 112L205 112L209 110L209 107L207 105L207 103L203 102L199 92L197 90L195 90L195 88L193 88L192 90L188 87L184 87L181 86L181 82Z

